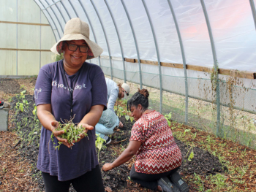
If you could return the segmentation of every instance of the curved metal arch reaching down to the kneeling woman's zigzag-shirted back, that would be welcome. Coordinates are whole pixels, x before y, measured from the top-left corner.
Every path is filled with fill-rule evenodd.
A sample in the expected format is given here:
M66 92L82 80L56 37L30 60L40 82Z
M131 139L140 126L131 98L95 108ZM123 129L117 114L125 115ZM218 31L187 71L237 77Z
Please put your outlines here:
M148 21L151 26L151 31L152 31L152 34L154 37L154 45L157 50L157 61L158 61L158 67L159 67L159 82L160 82L160 85L159 85L159 87L160 87L160 109L159 109L159 112L162 112L162 71L161 71L160 55L159 55L159 50L158 50L158 45L157 45L157 38L156 38L156 34L154 33L154 26L152 24L152 20L149 15L149 12L148 12L148 7L146 6L145 0L142 0L142 2L143 2L143 6L146 10L146 14L148 16Z

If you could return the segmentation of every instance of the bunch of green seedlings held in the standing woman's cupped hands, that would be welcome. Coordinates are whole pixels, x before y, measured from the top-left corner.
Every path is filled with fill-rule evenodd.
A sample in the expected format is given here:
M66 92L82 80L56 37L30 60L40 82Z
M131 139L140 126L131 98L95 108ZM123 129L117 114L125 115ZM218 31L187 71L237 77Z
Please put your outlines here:
M77 123L76 124L73 123L72 120L66 120L66 123L62 123L62 124L61 124L61 122L59 122L59 126L56 128L56 131L63 130L64 134L59 135L59 137L61 137L62 139L67 139L67 142L69 144L75 145L73 143L74 140L75 140L75 142L77 142L78 139L80 139L80 136L82 136L84 134L84 136L86 137L87 134L86 134L86 132L84 132L85 128L83 128L83 126L77 126L76 125ZM55 142L53 140L53 138L54 138L53 133L51 134L50 138L53 142L53 147L55 149L58 148L58 150L59 150L59 147L62 144L62 142L58 142L59 145L54 146Z

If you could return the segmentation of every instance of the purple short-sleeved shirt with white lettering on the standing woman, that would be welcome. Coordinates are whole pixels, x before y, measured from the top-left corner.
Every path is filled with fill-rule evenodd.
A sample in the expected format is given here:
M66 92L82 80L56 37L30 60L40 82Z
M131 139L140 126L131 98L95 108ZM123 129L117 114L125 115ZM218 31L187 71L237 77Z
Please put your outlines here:
M69 85L61 70L64 72L62 60L42 66L39 70L34 90L37 105L51 104L56 120L70 120L69 88L72 85L72 110L75 115L73 123L80 123L94 105L103 104L106 109L107 86L99 66L85 62L80 68L80 73L71 76L65 73ZM65 181L79 177L99 164L95 147L95 129L88 131L89 138L84 137L80 142L76 142L72 149L61 145L59 150L55 150L50 139L51 134L51 131L42 126L37 160L37 169L40 171L58 176L58 180ZM55 137L54 142L57 145L58 140Z

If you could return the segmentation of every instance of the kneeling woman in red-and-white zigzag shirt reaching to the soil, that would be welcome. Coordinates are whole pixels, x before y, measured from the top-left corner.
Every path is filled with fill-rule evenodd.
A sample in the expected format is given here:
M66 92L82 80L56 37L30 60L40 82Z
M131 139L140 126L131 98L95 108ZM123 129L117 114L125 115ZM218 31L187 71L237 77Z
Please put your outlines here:
M181 166L181 151L174 142L172 131L165 117L148 109L149 93L142 89L127 102L136 122L132 126L129 145L111 164L108 171L129 161L136 154L130 178L145 188L159 191L189 191L189 187L177 172Z

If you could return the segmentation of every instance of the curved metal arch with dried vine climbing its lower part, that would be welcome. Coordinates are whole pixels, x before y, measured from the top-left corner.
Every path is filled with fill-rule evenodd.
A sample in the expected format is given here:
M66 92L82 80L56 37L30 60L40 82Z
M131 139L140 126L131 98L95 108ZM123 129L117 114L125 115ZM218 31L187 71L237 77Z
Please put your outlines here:
M211 51L214 58L214 72L217 72L217 88L216 88L216 104L217 104L217 131L216 135L219 136L219 128L220 128L220 95L219 95L219 73L218 73L218 63L217 63L217 55L216 55L216 49L214 45L214 37L211 32L211 24L208 18L207 10L206 10L206 4L203 0L200 0L202 8L203 8L203 14L206 18L206 24L208 28L208 33L211 41Z

